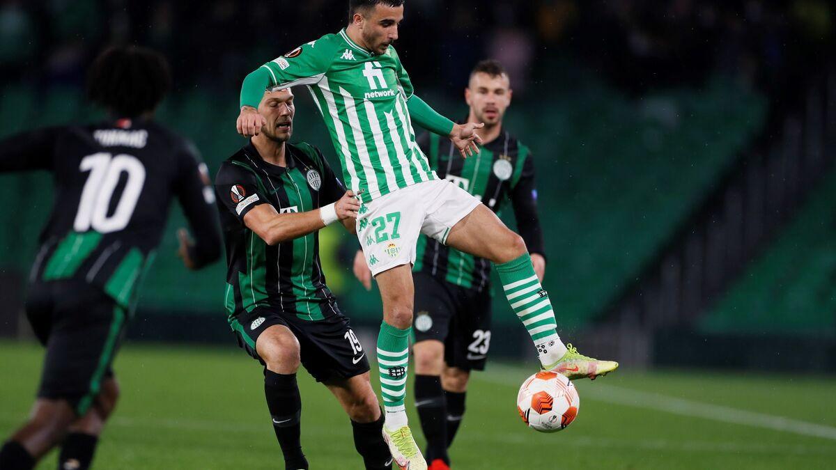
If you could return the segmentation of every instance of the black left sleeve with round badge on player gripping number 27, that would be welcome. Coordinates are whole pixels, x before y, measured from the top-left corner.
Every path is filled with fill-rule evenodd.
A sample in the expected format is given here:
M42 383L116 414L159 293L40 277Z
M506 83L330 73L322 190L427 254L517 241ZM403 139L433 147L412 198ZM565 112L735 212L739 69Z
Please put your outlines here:
M270 203L256 176L231 161L223 162L217 172L215 194L220 205L226 207L242 225L247 212Z

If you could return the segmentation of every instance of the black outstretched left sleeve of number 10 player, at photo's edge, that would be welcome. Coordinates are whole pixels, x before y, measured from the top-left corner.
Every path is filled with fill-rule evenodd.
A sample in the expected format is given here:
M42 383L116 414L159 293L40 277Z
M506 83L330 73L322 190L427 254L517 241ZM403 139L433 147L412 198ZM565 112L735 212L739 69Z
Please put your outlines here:
M0 173L54 169L60 128L30 130L0 140Z

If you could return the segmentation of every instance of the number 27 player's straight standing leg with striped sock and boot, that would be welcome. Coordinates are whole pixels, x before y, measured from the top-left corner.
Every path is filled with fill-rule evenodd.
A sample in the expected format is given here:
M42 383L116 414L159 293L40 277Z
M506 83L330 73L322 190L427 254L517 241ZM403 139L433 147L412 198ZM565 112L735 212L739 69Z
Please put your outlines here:
M380 392L385 408L384 437L392 457L400 466L410 464L410 470L426 468L424 457L406 420L406 370L409 362L410 331L415 286L409 264L401 264L377 274L380 297L383 300L383 323L377 337L377 362L380 373Z

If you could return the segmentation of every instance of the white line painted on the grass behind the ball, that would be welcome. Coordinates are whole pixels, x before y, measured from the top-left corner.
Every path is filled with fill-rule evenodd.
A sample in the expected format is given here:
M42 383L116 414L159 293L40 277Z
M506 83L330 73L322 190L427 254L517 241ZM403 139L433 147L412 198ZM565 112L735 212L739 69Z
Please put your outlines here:
M496 370L497 368L494 368ZM518 371L515 371L518 372ZM493 383L515 386L516 381L495 374L477 374L477 380L482 379ZM616 405L634 406L655 411L666 411L675 415L700 417L713 421L727 422L752 427L762 427L773 431L792 432L802 436L821 437L836 441L836 427L799 421L784 416L767 415L755 411L740 410L730 406L711 405L675 396L666 396L647 391L636 391L620 386L594 384L592 388L584 390L584 396L598 401L606 401Z

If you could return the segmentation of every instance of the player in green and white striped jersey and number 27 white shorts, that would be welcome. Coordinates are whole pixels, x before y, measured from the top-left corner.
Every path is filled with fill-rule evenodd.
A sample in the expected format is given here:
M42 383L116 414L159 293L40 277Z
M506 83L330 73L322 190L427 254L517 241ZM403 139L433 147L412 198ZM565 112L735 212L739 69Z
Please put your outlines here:
M439 180L415 144L413 121L450 138L462 156L472 156L481 143L477 130L483 124L454 124L415 95L391 46L398 38L403 3L349 0L346 28L305 43L247 75L237 129L242 135L257 135L265 125L257 113L265 89L307 85L314 96L342 162L346 186L364 203L357 232L384 309L378 364L385 438L395 462L421 470L426 462L415 447L404 406L414 299L410 268L421 233L496 265L544 368L594 377L618 364L566 349L523 239L470 193Z

